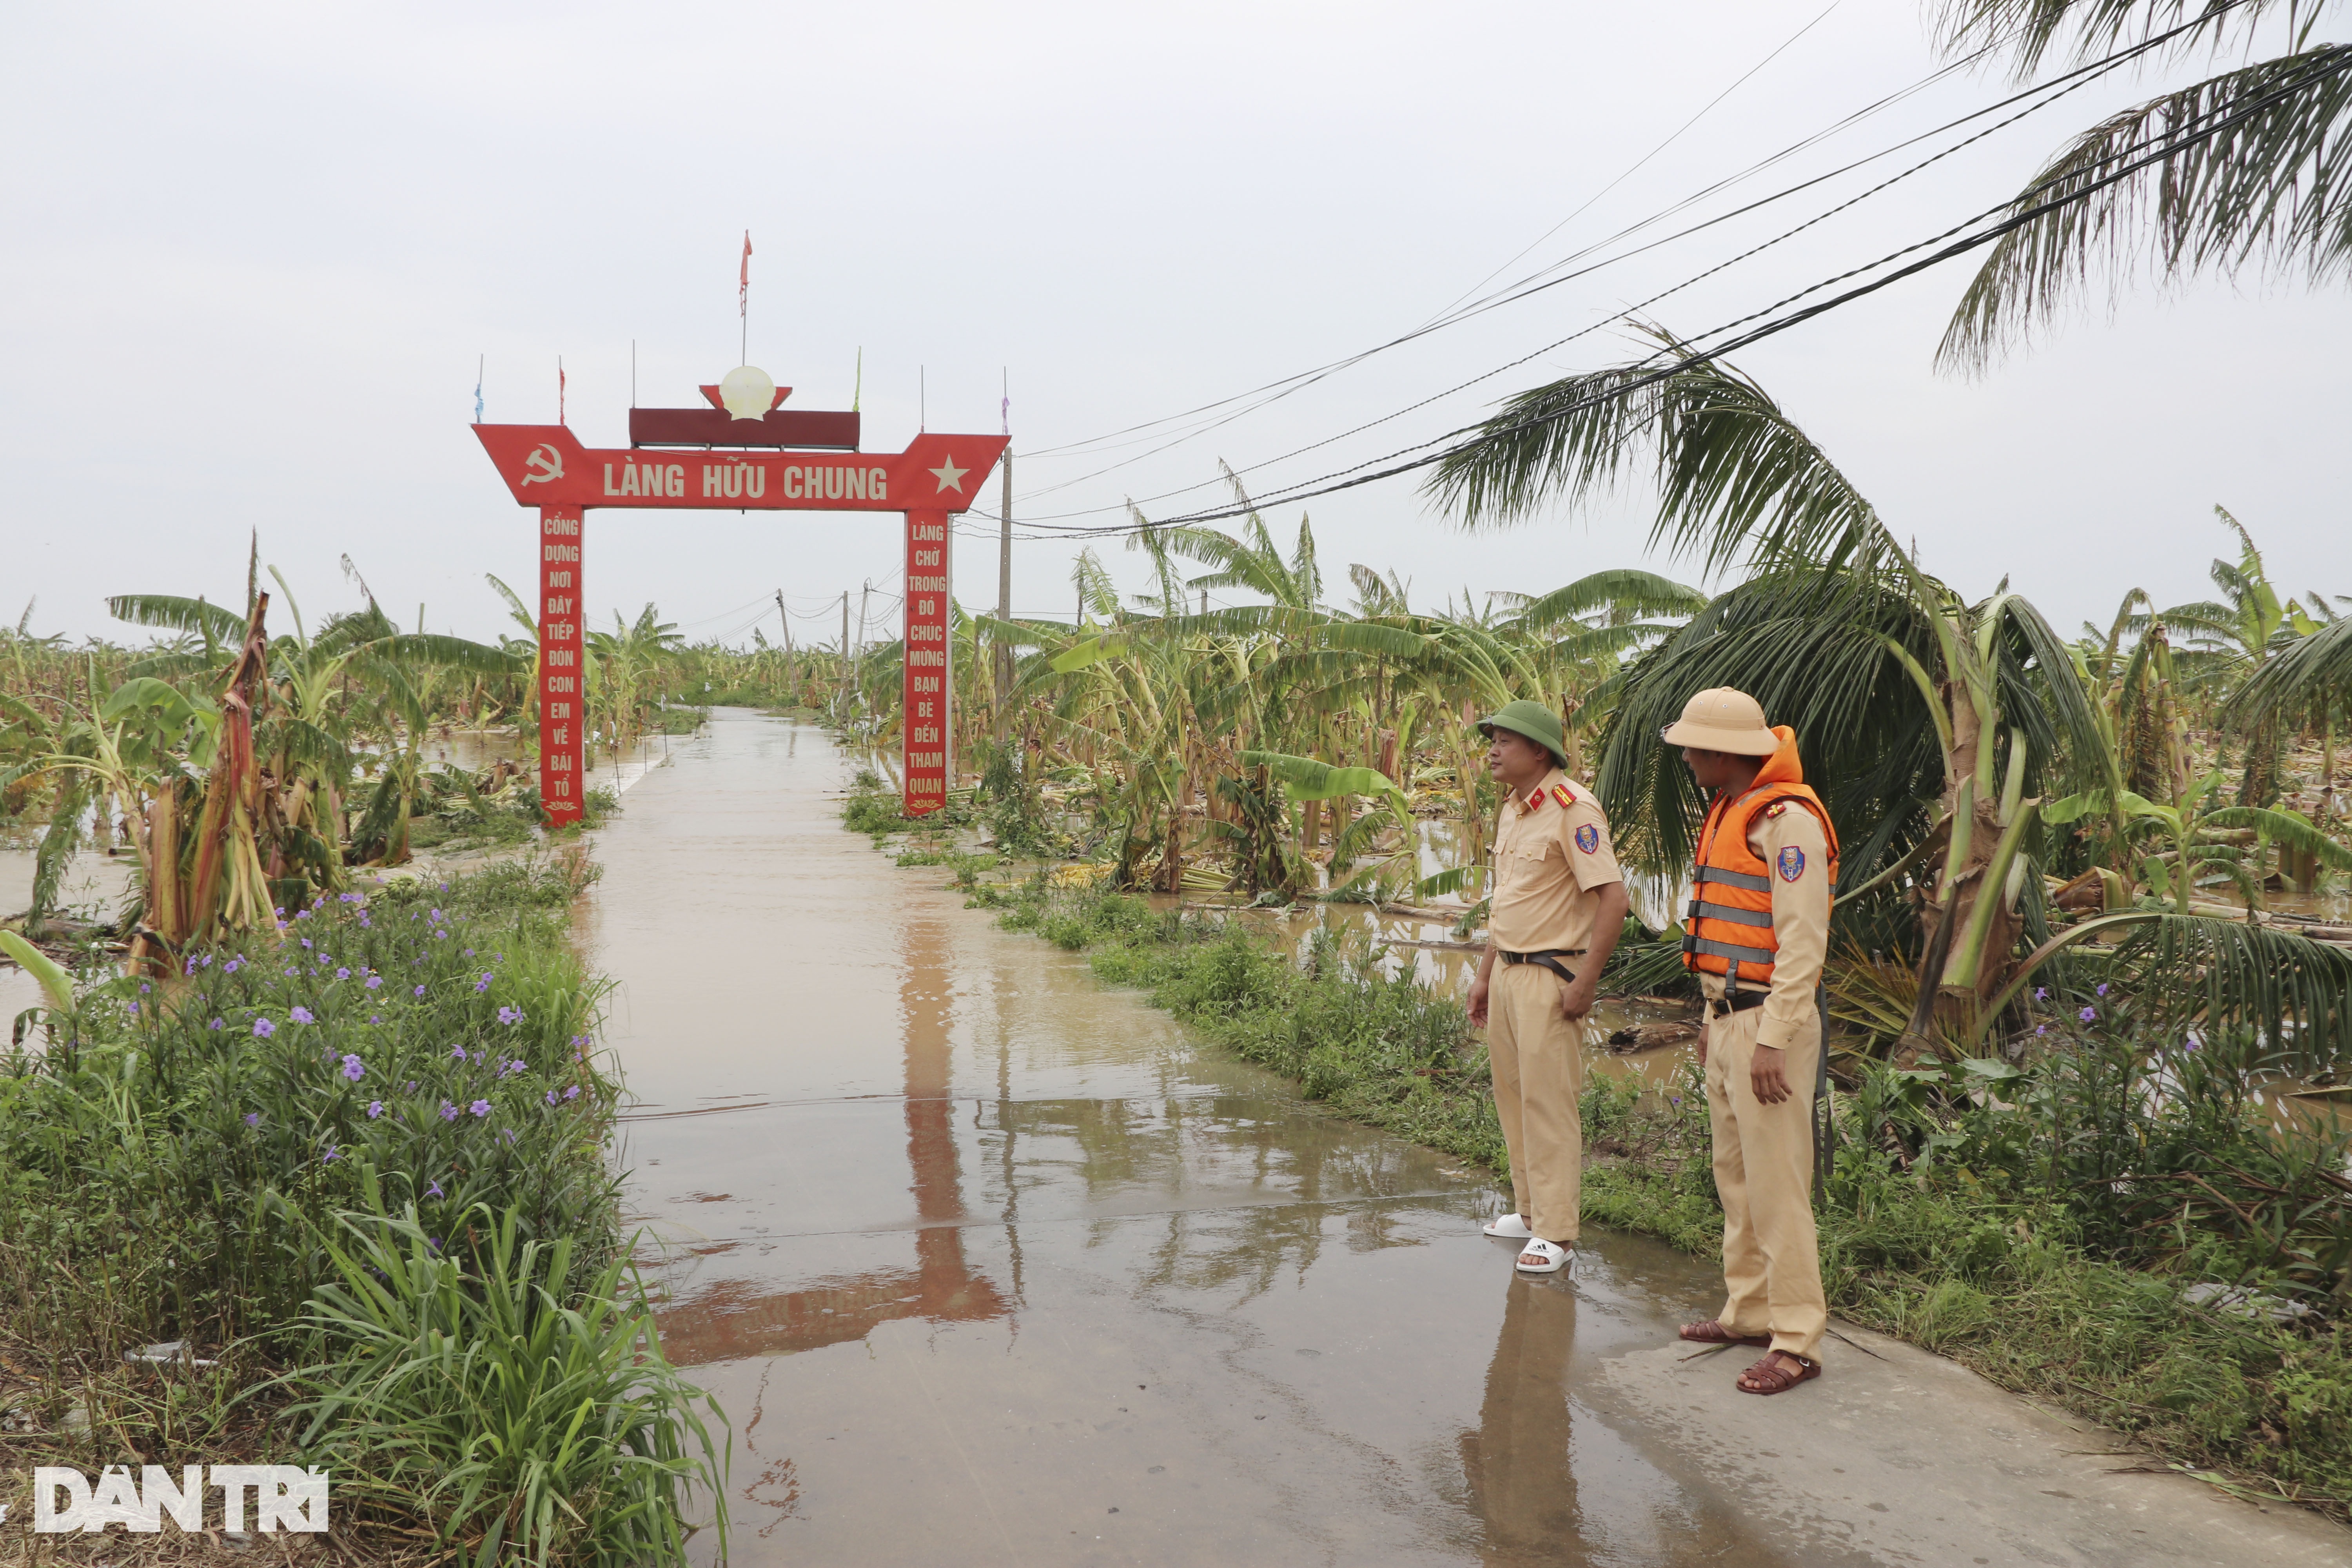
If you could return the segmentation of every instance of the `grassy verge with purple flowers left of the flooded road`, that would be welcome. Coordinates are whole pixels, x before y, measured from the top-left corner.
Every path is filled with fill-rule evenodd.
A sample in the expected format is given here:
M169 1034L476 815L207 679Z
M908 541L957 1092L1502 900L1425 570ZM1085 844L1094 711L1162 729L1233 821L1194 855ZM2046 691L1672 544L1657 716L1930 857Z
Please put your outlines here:
M0 1533L35 1465L296 1462L343 1556L682 1559L715 1406L626 1265L602 983L564 924L593 872L322 898L172 978L78 976L0 1067Z

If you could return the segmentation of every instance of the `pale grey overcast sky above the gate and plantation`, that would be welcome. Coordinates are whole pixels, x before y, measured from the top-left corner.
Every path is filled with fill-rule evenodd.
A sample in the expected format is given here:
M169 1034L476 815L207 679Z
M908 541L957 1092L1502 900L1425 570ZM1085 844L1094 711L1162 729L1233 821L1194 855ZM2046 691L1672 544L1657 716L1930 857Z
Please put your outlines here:
M1221 458L1263 491L1310 480L1630 357L1609 327L1628 306L1957 141L1228 404L1216 428L1103 440L1421 327L1943 63L1922 9L1825 2L12 12L0 616L38 595L35 632L143 637L108 621L108 592L242 602L259 529L313 623L358 602L350 555L402 621L423 604L435 630L506 630L485 574L529 592L534 534L466 428L477 362L489 421L543 423L560 355L572 428L626 444L633 343L649 407L689 407L736 364L743 230L750 362L790 407L847 407L863 350L866 447L894 451L917 418L997 430L1009 376L1014 451L1035 454L1016 456L1014 609L1068 616L1077 545L1051 529L1117 522L1129 496L1152 517L1223 501ZM1924 240L2206 68L2096 82L1653 313L1700 331ZM1929 82L1642 240L2006 92ZM2225 503L2284 585L2352 592L2345 292L2131 292L1959 381L1931 355L1966 266L1736 357L1929 569L1969 592L2006 574L2063 628L2105 621L2133 585L2204 597L2206 562L2234 552ZM983 494L957 597L993 607L995 477ZM1632 494L1465 538L1411 480L1268 522L1289 538L1301 510L1334 602L1364 562L1423 607L1642 562L1649 522ZM1141 555L1098 548L1143 588ZM880 621L898 552L875 515L593 512L586 599L597 621L652 599L694 637L748 642L762 611L776 635L781 588L809 616L797 639L835 637L826 599L870 578Z

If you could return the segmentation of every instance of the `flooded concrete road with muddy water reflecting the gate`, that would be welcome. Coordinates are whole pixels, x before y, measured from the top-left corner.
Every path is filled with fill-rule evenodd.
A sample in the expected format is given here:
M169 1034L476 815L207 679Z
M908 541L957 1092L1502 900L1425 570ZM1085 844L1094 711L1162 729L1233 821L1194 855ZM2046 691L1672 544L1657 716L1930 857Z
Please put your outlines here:
M842 832L818 731L673 752L581 929L736 1563L2345 1561L1860 1331L1736 1396L1705 1265L1517 1279L1475 1173Z

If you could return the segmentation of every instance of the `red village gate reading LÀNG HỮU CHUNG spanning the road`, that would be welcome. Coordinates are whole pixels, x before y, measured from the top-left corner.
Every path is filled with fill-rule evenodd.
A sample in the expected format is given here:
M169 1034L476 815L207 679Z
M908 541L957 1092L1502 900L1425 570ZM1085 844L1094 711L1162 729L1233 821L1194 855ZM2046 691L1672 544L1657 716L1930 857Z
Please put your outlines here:
M786 411L779 404L793 388L750 367L729 371L724 388L703 388L708 409L630 409L626 449L581 447L569 425L473 428L515 501L539 508L539 795L548 820L581 816L581 522L588 508L607 505L903 512L906 813L938 811L948 799L955 701L948 522L981 494L1007 437L927 433L906 451L858 451L856 414Z

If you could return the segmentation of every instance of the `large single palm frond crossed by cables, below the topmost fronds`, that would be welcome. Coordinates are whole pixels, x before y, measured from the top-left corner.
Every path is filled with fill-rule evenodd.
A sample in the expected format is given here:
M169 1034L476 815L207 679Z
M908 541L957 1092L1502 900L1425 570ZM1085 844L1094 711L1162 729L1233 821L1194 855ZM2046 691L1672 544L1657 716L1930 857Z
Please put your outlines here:
M2117 287L2143 268L2183 280L2256 261L2307 277L2345 273L2347 136L2352 45L2227 71L2093 125L2025 186L2013 212L2074 190L2084 197L1994 242L1945 329L1938 362L1983 371L2072 308L2098 270ZM2103 183L2166 148L2178 150Z

